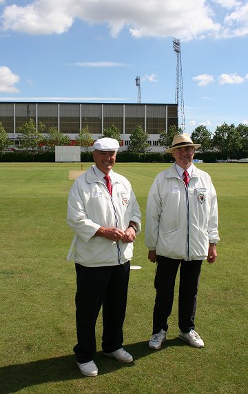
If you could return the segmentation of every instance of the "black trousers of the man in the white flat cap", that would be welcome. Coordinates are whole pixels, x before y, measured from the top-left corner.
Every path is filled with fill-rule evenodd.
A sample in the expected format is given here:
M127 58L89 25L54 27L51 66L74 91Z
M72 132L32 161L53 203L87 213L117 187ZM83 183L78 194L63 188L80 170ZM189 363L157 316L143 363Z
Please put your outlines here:
M89 362L96 353L96 319L103 306L104 353L122 347L130 262L118 266L76 265L76 333L78 362Z

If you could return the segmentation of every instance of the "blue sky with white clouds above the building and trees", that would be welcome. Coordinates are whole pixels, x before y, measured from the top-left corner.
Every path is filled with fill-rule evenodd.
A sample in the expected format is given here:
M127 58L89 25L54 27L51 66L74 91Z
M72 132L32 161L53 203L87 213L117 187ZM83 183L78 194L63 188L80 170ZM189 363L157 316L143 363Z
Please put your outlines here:
M185 131L248 124L248 1L0 0L0 101L176 102Z

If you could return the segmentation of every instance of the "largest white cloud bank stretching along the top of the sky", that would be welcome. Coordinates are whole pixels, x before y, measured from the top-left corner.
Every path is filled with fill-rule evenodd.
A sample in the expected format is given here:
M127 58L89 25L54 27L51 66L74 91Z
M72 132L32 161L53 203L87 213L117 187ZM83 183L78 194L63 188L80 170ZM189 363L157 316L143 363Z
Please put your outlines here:
M3 30L30 35L66 32L75 19L106 23L112 36L126 27L133 37L180 37L189 40L220 30L203 0L35 0L3 8Z

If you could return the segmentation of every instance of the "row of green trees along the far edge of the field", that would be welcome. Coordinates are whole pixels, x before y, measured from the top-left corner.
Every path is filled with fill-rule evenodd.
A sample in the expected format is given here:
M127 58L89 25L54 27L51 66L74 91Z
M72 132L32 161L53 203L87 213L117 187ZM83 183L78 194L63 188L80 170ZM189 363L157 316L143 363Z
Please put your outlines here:
M17 128L17 134L22 150L32 151L32 153L54 152L55 146L72 145L72 140L68 135L63 134L57 127L50 127L45 132L45 125L39 122L38 126L33 119L29 119L25 124ZM182 130L175 125L169 126L168 130L162 130L158 138L160 146L168 148L172 146L174 135L182 134ZM112 137L121 143L121 131L112 124L109 128L103 130L101 137ZM149 152L150 145L148 143L149 135L143 130L141 125L136 125L130 135L130 146L128 150L133 153ZM198 152L218 152L223 157L229 159L238 159L248 156L248 125L239 124L222 124L216 128L212 135L206 126L198 126L192 131L192 140L195 144L200 144ZM79 134L73 141L75 146L81 146L84 152L89 152L90 147L94 143L92 134L89 132L88 126L79 130ZM8 133L4 130L0 122L0 152L6 150L10 144Z

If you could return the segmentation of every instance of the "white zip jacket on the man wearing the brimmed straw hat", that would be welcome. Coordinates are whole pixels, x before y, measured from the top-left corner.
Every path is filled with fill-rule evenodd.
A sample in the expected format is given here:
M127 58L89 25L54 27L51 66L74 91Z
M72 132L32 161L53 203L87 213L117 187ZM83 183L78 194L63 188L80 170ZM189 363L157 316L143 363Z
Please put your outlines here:
M156 255L203 260L217 243L218 207L211 177L193 165L188 188L176 164L159 173L147 198L145 244Z

